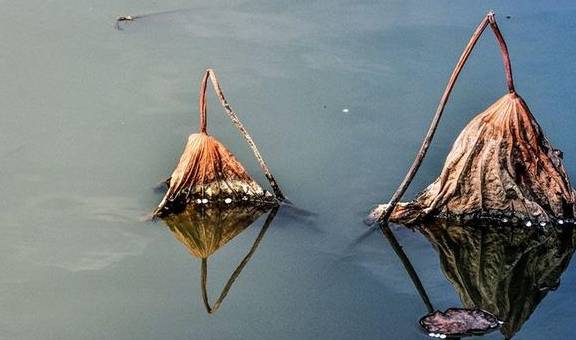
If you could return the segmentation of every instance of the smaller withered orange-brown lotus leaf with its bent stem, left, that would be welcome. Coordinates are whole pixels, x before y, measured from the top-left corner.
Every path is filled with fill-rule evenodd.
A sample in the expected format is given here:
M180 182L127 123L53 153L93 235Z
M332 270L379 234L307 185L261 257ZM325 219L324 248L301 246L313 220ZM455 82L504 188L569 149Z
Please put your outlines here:
M226 113L242 133L274 194L262 189L234 155L206 131L206 89L208 80ZM224 98L214 71L208 69L200 87L200 132L188 137L188 143L176 169L170 176L168 191L154 211L155 216L178 211L187 204L274 204L284 199L254 141Z

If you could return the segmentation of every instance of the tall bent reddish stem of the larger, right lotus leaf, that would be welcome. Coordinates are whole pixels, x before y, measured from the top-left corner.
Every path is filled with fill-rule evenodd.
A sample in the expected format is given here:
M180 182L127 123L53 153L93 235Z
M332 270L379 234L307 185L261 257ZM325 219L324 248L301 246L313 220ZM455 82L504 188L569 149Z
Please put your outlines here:
M474 31L474 34L472 34L470 41L468 41L466 48L464 48L462 55L460 55L460 59L458 60L456 67L452 71L450 79L448 80L448 84L446 85L446 89L442 94L442 98L440 99L440 103L438 104L438 108L436 109L436 113L434 114L434 118L432 119L432 123L430 124L430 128L428 129L426 137L424 137L422 145L418 150L416 159L414 159L414 162L410 166L410 169L408 170L406 177L404 177L404 180L402 181L402 183L400 184L394 195L392 195L392 198L388 202L386 209L384 210L382 215L380 215L380 217L378 218L379 223L386 223L388 221L388 218L390 218L390 215L392 214L392 211L394 211L396 204L398 204L398 202L402 198L402 195L404 195L404 193L408 189L408 186L410 186L410 183L412 183L412 180L414 179L416 172L420 168L420 165L422 164L422 161L426 156L426 152L428 152L428 148L430 147L432 138L434 138L434 134L436 133L436 129L438 128L438 123L440 123L440 118L442 117L442 113L444 112L444 108L446 107L446 103L448 102L448 98L452 93L452 89L456 84L456 80L458 80L458 76L460 75L460 72L464 68L464 64L468 60L468 57L470 57L472 49L474 48L474 46L478 42L478 39L480 38L480 36L482 35L482 33L484 32L484 30L488 25L490 25L490 27L492 28L492 31L494 32L494 35L496 36L496 39L498 41L498 46L500 47L500 53L502 54L502 59L504 62L504 70L506 72L506 82L508 86L508 92L510 93L515 92L514 81L512 79L512 66L510 64L510 55L508 54L508 48L506 46L506 42L504 41L504 37L502 37L502 33L500 33L500 29L496 24L494 12L489 12L488 14L486 14L484 19L482 19L482 22L480 22L480 25L478 25L476 31Z

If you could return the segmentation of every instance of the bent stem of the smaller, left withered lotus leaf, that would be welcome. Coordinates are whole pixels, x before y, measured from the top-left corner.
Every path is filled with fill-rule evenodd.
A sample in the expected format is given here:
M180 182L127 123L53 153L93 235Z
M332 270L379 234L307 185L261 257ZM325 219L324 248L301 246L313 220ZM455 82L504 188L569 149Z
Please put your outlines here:
M264 172L264 175L266 176L266 179L268 179L268 182L270 182L270 186L272 187L272 190L274 191L274 195L280 201L285 200L284 194L280 190L280 187L278 186L276 179L272 175L270 168L268 168L268 165L266 165L264 158L262 158L260 151L258 151L258 148L256 147L256 144L254 143L254 140L252 139L250 134L248 134L248 131L246 131L246 128L244 127L244 125L242 125L242 122L240 122L240 119L238 118L238 115L236 114L236 112L234 112L234 110L232 110L232 108L230 107L230 104L228 104L228 102L226 101L226 98L224 97L224 93L222 92L222 88L220 87L220 83L218 82L218 79L216 78L216 74L214 73L214 70L212 70L212 69L206 70L206 73L204 73L204 77L202 78L202 82L200 85L200 102L199 102L199 105L200 105L200 132L206 133L206 125L207 125L206 89L208 87L208 79L210 79L210 81L212 82L212 87L214 88L214 91L216 92L216 95L218 96L218 99L220 100L220 104L222 104L222 106L224 107L224 110L228 114L228 117L230 118L232 123L234 123L236 128L240 131L240 133L242 134L242 136L244 137L244 139L246 140L246 142L250 146L250 149L252 149L252 152L254 153L254 156L256 157L256 160L258 161L260 168Z

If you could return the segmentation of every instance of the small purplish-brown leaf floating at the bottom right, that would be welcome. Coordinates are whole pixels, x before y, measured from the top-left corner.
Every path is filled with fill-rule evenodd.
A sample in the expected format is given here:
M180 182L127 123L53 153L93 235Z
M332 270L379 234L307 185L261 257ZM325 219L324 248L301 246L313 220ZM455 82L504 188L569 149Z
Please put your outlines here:
M429 336L441 339L448 336L481 335L500 327L501 324L492 313L467 308L435 311L420 319L420 325Z

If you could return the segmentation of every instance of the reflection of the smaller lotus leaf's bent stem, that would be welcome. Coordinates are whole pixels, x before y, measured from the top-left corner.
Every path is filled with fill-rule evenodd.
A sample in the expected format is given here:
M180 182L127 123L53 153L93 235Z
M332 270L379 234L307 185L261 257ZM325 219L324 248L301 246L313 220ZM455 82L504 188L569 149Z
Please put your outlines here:
M273 207L272 210L270 211L270 213L268 213L268 217L266 217L266 221L264 222L264 225L262 225L262 229L260 230L258 237L256 237L256 240L252 244L252 247L248 251L248 254L246 254L246 256L244 256L244 258L242 259L242 261L240 262L238 267L236 267L236 269L234 270L234 272L232 273L232 275L230 276L230 278L226 282L224 289L222 289L220 296L218 297L218 299L216 300L216 302L212 306L210 306L210 302L208 301L208 289L207 289L208 259L207 258L202 259L202 269L201 269L201 278L200 278L200 281L201 281L200 284L202 286L202 300L204 301L204 306L206 307L206 311L209 314L213 314L213 313L216 313L216 311L218 311L218 309L220 308L220 305L222 304L222 301L224 301L224 298L226 298L226 295L228 295L228 291L232 287L232 284L234 284L234 281L236 281L236 279L240 275L240 272L242 272L242 269L244 269L246 264L248 264L248 261L250 261L250 258L252 257L252 255L254 254L256 249L258 248L260 241L262 241L262 239L264 238L264 234L266 234L268 227L270 227L270 224L272 224L272 221L274 220L274 217L276 217L277 212L278 212L278 207Z

